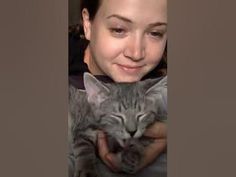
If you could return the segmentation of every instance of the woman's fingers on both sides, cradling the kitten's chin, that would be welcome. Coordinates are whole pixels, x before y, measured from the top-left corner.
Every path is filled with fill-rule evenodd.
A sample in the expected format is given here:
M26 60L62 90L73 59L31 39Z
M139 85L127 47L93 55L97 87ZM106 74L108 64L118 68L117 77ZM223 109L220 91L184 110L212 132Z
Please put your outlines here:
M167 147L167 125L163 122L156 122L144 133L145 136L154 138L154 142L146 147L144 158L139 169L152 163L158 155L166 150ZM103 132L98 134L98 151L103 162L113 171L118 171L116 154L109 151L106 136Z

